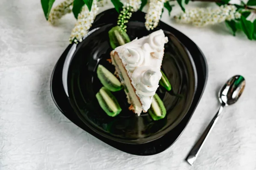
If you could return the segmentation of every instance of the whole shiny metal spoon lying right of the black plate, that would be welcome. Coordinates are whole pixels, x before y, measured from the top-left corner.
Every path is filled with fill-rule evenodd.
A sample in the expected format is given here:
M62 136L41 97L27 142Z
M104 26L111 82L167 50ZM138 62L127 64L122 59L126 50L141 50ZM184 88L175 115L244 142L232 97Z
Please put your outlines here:
M221 90L218 93L219 101L221 102L221 106L218 110L218 112L213 117L210 124L207 126L206 130L204 130L204 133L196 142L195 146L190 151L188 157L186 158L186 161L189 162L189 164L193 165L195 162L195 159L198 156L198 153L202 149L204 142L206 141L207 137L209 136L210 132L213 129L213 126L216 124L224 106L229 106L234 104L239 97L241 96L242 92L244 91L245 86L245 79L244 77L240 75L236 75L234 77L231 77L221 88Z

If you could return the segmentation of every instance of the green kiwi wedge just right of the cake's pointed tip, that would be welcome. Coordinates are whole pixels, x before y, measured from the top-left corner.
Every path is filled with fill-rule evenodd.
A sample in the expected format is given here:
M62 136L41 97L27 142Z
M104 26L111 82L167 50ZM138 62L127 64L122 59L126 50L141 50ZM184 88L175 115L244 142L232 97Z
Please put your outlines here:
M148 109L148 113L153 120L163 119L166 116L166 108L163 105L163 101L157 94L155 94L152 99L151 107Z

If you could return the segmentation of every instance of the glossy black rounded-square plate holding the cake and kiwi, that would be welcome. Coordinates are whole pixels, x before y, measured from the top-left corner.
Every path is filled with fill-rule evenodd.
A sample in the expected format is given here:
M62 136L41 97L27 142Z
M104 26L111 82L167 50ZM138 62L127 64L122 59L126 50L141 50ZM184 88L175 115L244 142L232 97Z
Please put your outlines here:
M194 42L160 22L157 29L163 29L169 38L162 69L173 87L171 93L163 88L157 91L166 106L166 118L153 121L147 113L132 113L123 91L113 93L122 112L114 118L107 116L95 97L102 87L96 68L100 63L114 71L106 59L111 51L108 31L115 26L117 16L114 9L102 12L83 42L68 46L52 74L52 97L68 119L100 140L128 153L156 154L175 142L192 116L206 84L207 63ZM131 40L150 34L144 17L140 11L133 14L127 28Z

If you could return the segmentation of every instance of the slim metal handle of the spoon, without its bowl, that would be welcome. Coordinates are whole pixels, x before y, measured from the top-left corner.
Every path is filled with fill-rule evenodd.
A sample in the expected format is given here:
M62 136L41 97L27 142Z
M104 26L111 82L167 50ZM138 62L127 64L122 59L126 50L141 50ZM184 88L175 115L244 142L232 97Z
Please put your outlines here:
M210 132L212 131L214 125L216 124L222 110L223 110L223 106L221 105L218 112L212 118L212 121L209 123L207 128L204 130L204 133L202 134L202 136L198 139L198 141L196 142L196 144L194 145L194 147L190 151L188 157L186 158L186 161L188 161L190 165L194 164L195 159L197 158L200 150L202 149L202 147L204 145L204 142L206 141L206 139L208 138L208 136L209 136Z

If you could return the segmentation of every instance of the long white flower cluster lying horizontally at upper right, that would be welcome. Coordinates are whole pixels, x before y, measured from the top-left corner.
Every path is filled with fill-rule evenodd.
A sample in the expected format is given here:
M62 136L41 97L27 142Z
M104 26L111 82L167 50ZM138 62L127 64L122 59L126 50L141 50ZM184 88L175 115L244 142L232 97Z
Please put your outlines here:
M186 10L186 13L181 13L175 16L178 23L192 23L195 26L207 26L216 23L222 23L225 20L234 20L241 17L241 14L236 11L236 6L222 5L219 8L195 8Z

